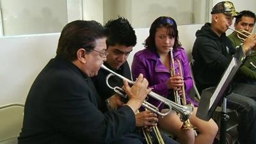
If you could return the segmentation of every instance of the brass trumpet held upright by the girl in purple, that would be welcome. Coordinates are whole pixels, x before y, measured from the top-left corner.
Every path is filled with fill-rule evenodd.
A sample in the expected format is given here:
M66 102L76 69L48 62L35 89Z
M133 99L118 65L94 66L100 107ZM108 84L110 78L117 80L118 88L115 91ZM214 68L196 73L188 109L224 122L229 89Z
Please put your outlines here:
M179 67L179 76L183 77L180 61L179 60L176 60L176 61L178 63L178 67ZM170 63L171 63L171 67L170 67L171 77L174 77L174 76L176 76L176 74L175 74L175 67L174 67L173 47L170 47ZM186 102L186 93L185 93L184 86L181 87L181 91L182 91L182 93L181 93L181 98L180 98L179 90L177 90L177 89L175 90L173 88L174 99L177 104L186 106L187 102ZM189 122L189 119L184 121L182 124L182 129L194 129L194 128L195 127Z

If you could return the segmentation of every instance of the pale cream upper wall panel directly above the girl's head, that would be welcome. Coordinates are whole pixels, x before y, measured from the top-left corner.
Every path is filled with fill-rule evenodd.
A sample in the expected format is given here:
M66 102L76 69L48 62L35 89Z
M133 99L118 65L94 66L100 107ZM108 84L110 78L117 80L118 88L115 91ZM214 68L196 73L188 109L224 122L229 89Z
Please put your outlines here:
M188 0L132 0L129 13L132 13L131 23L136 28L147 28L161 15L168 15L177 24L191 24L193 20L193 1Z

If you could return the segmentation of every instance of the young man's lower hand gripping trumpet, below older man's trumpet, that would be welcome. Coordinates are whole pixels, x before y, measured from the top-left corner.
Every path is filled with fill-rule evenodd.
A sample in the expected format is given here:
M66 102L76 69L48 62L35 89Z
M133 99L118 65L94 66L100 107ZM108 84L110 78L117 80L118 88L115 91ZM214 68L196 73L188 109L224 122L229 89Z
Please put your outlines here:
M150 128L157 125L158 118L156 113L151 111L142 111L136 114L136 127Z

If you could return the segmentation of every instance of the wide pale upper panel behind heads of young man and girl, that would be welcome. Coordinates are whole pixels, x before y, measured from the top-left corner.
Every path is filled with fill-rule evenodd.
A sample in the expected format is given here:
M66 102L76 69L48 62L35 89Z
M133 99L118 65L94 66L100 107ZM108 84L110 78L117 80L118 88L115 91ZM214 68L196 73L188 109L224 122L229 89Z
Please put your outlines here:
M194 1L198 5L194 6ZM205 4L204 0L103 0L103 3L104 22L120 15L126 17L134 28L148 28L161 15L173 17L179 25L205 21L200 17L205 5L199 5Z

